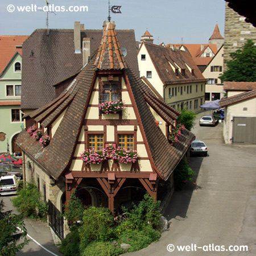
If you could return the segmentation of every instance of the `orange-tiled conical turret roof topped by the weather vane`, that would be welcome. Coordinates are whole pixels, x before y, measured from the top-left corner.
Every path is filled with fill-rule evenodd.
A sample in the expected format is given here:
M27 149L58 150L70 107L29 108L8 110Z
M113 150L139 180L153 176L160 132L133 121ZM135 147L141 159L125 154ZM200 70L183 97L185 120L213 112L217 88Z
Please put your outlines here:
M111 22L106 23L104 28L94 65L97 69L101 70L127 68L115 27Z

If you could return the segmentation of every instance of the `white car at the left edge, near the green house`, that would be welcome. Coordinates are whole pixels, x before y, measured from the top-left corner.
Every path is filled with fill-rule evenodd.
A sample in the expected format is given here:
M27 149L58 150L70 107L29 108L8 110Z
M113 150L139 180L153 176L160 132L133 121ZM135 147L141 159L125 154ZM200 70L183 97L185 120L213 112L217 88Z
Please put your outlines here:
M0 177L0 195L15 195L20 177L16 175L3 175Z

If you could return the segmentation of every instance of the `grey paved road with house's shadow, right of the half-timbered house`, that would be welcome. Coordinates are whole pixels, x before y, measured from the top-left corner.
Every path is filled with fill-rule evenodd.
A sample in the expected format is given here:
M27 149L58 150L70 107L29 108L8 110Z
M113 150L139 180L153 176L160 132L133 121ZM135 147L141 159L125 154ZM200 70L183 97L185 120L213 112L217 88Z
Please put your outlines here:
M189 163L197 172L196 185L174 193L165 214L170 230L159 242L127 255L256 255L256 145L223 144L222 125L196 124L193 133L208 146L207 157ZM174 251L167 251L169 244ZM177 251L176 246L191 244L204 248ZM249 251L213 251L212 244L247 245Z

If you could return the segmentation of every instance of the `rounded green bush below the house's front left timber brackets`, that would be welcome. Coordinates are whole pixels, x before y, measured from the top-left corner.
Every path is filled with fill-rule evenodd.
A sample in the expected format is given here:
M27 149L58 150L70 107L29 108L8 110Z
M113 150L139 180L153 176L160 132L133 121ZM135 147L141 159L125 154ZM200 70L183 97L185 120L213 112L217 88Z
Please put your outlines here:
M108 208L89 207L84 211L82 226L79 229L84 247L91 241L109 241L114 237L114 217Z

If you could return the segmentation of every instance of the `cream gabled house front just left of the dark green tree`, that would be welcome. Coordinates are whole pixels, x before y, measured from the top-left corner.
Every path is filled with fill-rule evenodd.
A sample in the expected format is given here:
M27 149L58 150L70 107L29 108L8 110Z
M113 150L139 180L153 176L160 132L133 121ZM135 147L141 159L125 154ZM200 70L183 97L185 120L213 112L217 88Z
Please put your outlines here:
M224 97L223 84L218 78L223 72L223 52L224 47L221 46L209 62L207 68L204 69L203 76L207 79L207 84L205 85L205 101L220 100Z

